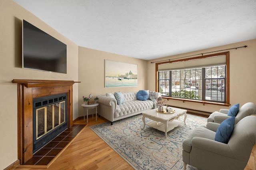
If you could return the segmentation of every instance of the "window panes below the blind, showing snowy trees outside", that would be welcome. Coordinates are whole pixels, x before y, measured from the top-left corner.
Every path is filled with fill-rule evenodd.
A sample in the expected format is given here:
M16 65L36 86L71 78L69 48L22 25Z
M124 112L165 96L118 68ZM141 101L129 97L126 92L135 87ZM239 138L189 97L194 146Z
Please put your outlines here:
M214 102L225 100L226 66L160 71L159 92L163 96Z

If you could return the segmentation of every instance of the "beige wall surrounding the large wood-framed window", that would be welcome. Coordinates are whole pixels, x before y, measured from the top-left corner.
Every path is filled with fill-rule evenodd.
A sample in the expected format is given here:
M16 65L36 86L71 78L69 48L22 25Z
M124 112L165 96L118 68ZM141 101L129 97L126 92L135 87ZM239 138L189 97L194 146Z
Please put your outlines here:
M254 102L256 104L256 39L250 41L243 41L239 43L223 45L220 47L214 47L210 49L194 51L181 55L175 55L170 57L164 57L161 59L155 59L148 61L148 89L155 90L155 69L156 64L150 62L162 61L165 59L174 59L178 57L185 57L189 55L196 55L201 53L208 53L211 51L218 51L223 49L230 49L235 47L242 47L247 45L246 48L226 50L230 51L230 104L231 106L239 103L240 107L247 102ZM221 51L224 52L224 51ZM220 52L215 52L220 53ZM214 54L214 53L209 53ZM205 54L208 55L208 54ZM199 55L198 55L199 56ZM196 56L193 56L196 57ZM188 109L196 109L200 111L213 112L218 111L221 108L229 109L229 107L221 107L210 104L200 104L194 102L182 102L178 100L169 100L168 103L171 106L184 107Z

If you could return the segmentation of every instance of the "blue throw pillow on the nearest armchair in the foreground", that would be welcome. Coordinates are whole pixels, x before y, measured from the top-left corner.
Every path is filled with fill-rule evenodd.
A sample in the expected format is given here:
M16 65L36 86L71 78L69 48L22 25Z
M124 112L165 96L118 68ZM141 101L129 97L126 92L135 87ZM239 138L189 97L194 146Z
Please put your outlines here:
M215 134L215 141L222 142L222 143L228 143L228 139L231 136L231 133L234 129L235 125L235 119L236 117L230 117L222 123L220 123L220 126L218 127L216 134Z

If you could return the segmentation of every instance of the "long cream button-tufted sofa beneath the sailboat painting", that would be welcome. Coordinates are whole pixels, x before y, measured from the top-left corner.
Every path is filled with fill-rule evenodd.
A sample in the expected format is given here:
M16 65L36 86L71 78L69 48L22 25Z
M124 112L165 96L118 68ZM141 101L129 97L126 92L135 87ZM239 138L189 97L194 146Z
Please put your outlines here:
M99 112L98 115L108 119L113 125L114 121L124 119L133 115L153 109L154 103L151 100L137 100L137 92L126 92L124 94L124 103L118 105L115 98L107 97L105 94L98 96ZM156 99L161 93L156 92Z

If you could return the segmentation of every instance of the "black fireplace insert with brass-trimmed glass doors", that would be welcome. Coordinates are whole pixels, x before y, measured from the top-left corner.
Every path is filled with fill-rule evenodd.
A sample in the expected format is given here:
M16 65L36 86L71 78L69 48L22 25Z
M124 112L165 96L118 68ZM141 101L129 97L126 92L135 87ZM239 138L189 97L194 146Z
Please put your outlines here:
M33 153L67 129L67 94L33 99Z

